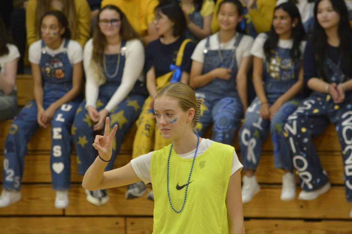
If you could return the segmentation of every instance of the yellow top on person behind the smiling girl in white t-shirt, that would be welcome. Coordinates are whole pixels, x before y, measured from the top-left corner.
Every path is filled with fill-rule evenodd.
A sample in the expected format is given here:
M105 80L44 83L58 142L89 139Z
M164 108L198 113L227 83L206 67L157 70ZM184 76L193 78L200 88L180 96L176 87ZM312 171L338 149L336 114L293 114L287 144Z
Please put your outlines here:
M215 14L213 14L212 24L210 25L212 33L216 33L220 29L217 13L219 10L219 5L222 1L223 0L218 0L215 5ZM250 16L254 28L258 34L270 30L275 6L276 0L258 0L257 9L253 9L252 11L248 12L248 15Z

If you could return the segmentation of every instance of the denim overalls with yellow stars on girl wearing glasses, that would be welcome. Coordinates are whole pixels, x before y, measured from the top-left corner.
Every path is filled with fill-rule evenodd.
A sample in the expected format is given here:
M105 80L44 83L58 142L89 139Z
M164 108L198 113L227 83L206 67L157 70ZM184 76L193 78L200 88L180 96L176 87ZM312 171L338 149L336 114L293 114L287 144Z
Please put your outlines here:
M122 41L119 64L117 62L119 54L105 54L106 82L99 87L99 96L96 102L96 109L98 112L107 105L121 84L126 60L125 50L126 41ZM116 69L118 69L118 71ZM112 76L116 71L116 75ZM136 121L139 116L141 107L146 98L145 93L146 88L144 84L137 81L130 94L128 94L128 96L108 114L110 118L110 127L112 128L115 124L117 124L118 130L113 142L112 160L105 168L106 171L113 169L114 161L120 151L121 143L124 141L125 135L130 131L134 121ZM85 106L86 101L84 100L77 109L72 127L72 135L78 157L78 174L80 175L83 175L87 171L97 156L97 152L92 146L94 143L95 134L103 134L101 132L94 132L93 126L95 125L95 122L89 118L88 111L85 109Z

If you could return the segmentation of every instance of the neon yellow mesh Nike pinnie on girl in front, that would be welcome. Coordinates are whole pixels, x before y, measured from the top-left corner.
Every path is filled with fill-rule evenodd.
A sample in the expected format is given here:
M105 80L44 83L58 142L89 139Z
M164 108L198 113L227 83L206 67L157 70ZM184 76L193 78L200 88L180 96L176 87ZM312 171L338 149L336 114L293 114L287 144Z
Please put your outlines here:
M154 191L153 233L229 232L226 195L231 176L234 148L214 142L194 161L187 188L187 198L181 213L172 210L166 189L166 170L170 145L155 151L150 161ZM182 208L193 158L184 159L172 149L169 162L169 193L172 206Z

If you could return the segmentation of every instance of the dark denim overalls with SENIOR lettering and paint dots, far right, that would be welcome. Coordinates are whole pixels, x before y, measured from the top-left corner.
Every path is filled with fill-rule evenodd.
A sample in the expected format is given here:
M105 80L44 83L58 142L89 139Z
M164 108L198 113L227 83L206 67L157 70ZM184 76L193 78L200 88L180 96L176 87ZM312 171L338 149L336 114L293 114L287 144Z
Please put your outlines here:
M328 83L346 81L339 66L331 59L325 61ZM298 109L289 116L285 125L302 189L314 191L328 182L312 138L322 133L329 123L334 123L341 145L344 162L346 198L352 202L352 92L345 93L342 103L334 103L331 95L313 92Z

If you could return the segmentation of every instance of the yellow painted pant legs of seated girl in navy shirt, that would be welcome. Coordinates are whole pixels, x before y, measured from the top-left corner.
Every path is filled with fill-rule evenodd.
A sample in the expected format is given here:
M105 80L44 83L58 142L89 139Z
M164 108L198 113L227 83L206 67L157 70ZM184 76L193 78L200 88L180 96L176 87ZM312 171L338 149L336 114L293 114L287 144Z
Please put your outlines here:
M132 159L137 158L140 155L147 154L153 150L162 149L163 147L170 145L170 139L164 139L159 131L156 120L152 119L154 116L154 110L150 107L152 97L149 96L142 107L142 112L136 122L137 132L134 136ZM154 148L152 148L152 139L154 136Z

